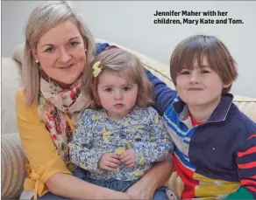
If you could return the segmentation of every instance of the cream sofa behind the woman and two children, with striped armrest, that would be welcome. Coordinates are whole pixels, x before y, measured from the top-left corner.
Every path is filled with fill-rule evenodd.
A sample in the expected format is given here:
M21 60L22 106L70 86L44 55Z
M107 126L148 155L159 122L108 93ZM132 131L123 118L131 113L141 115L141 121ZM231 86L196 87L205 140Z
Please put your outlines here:
M97 38L96 42L110 45L115 43ZM157 75L174 88L170 78L168 66L146 57L139 52L132 51L122 45L118 47L136 54L148 70ZM24 44L18 45L12 58L2 58L2 198L17 199L22 190L26 176L25 162L27 162L21 147L15 114L15 93L21 82L21 69L23 66ZM235 95L234 103L253 121L256 122L256 99ZM174 172L166 185L172 188L178 197L181 197L183 184L181 178Z

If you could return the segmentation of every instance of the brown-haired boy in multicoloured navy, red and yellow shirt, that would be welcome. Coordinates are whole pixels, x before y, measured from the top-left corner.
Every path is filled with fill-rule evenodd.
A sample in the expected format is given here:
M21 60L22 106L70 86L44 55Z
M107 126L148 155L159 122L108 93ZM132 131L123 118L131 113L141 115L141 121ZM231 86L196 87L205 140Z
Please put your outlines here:
M186 38L174 49L170 72L177 92L147 76L174 140L181 199L256 199L256 124L228 93L238 77L228 49L212 36Z

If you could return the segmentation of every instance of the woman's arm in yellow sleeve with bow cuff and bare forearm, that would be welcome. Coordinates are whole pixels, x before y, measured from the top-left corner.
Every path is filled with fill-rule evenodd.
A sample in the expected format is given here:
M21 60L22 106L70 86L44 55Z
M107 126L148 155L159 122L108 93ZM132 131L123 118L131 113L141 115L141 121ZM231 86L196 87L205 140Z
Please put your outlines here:
M122 192L85 183L70 175L45 124L39 119L37 107L25 106L22 90L17 93L16 114L22 147L31 167L25 190L35 189L40 197L50 190L60 197L75 199L129 198Z

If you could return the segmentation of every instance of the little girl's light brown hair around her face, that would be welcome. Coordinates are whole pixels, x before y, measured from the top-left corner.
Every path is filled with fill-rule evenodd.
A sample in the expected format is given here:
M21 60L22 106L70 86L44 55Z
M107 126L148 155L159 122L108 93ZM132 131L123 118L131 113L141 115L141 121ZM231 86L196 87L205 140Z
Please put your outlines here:
M98 61L100 61L99 68L101 68L102 72L94 77L92 67ZM139 93L136 106L146 107L153 103L153 86L147 79L146 71L140 60L130 52L118 48L111 48L99 53L90 63L89 67L86 68L82 86L84 92L89 93L92 100L91 107L102 107L97 93L97 86L104 70L117 72L120 76L124 77L128 83L138 84Z

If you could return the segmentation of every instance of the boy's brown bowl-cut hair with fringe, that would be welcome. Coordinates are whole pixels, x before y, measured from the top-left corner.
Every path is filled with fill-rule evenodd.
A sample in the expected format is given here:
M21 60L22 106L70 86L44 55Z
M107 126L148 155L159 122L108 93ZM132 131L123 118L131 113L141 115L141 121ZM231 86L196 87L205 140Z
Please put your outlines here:
M237 64L228 48L214 36L196 35L182 40L172 53L170 73L174 85L183 67L193 69L196 60L198 65L202 66L204 57L224 84L230 84L238 78ZM223 92L228 93L230 90L231 86L224 88Z

